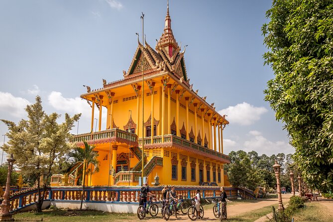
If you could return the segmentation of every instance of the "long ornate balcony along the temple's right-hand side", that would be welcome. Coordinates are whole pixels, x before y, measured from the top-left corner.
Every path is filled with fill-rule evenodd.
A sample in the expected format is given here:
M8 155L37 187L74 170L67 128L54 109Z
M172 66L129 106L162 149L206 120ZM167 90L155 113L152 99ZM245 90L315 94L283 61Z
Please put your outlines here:
M173 134L164 135L164 142L162 142L162 136L154 136L153 143L151 143L151 137L144 137L144 148L159 148L169 147L171 149L181 149L187 152L195 153L206 158L221 161L223 163L230 163L229 157L220 152L214 151L207 147L201 146L197 143L191 142L187 139L183 139ZM142 138L138 139L139 146L142 147Z

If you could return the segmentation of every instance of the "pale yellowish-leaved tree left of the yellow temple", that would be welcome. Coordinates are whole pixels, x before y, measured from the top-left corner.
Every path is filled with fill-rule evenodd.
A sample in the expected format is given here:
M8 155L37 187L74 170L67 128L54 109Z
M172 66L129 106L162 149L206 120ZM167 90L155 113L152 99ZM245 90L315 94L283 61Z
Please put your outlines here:
M12 153L16 159L15 164L26 178L37 178L38 201L37 212L41 212L46 188L49 186L53 174L55 160L68 152L73 144L69 143L72 135L70 130L81 114L70 117L65 114L65 121L58 123L60 115L46 114L42 108L42 101L36 97L36 103L26 107L28 120L20 120L18 124L3 120L9 129L6 136L9 138L3 150ZM42 188L41 191L41 180Z

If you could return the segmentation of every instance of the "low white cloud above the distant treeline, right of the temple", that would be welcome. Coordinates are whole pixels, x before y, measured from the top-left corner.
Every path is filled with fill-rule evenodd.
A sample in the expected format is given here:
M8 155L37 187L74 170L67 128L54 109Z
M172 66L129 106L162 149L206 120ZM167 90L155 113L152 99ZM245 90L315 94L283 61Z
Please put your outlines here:
M261 135L258 131L249 132L252 137L244 141L244 151L255 150L257 153L294 153L294 148L286 141L270 141Z

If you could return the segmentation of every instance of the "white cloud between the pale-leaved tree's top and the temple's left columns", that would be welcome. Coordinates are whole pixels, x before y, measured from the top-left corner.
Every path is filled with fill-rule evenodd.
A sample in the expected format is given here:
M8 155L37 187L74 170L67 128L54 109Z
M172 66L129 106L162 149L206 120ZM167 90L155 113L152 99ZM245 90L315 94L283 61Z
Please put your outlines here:
M65 111L71 114L82 113L83 117L91 117L91 108L86 100L80 97L64 98L60 92L52 91L48 96L49 104L58 111Z

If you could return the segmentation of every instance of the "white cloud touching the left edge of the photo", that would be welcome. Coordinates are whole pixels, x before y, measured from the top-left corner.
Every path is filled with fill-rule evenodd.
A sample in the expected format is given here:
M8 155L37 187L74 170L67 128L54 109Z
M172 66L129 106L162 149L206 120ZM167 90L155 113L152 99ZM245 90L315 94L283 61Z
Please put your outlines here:
M14 97L10 93L0 92L0 110L8 114L22 118L26 116L25 108L29 101L21 97Z

